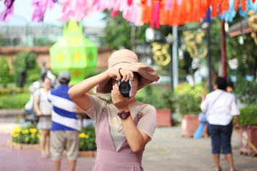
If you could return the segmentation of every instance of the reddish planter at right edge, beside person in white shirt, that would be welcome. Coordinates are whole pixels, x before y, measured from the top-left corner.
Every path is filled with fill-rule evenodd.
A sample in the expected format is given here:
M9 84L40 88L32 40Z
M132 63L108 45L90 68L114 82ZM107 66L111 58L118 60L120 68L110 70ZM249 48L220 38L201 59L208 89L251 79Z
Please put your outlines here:
M243 136L257 147L257 125L241 126L240 131ZM257 153L248 145L247 141L241 138L240 149L241 154L257 155Z

